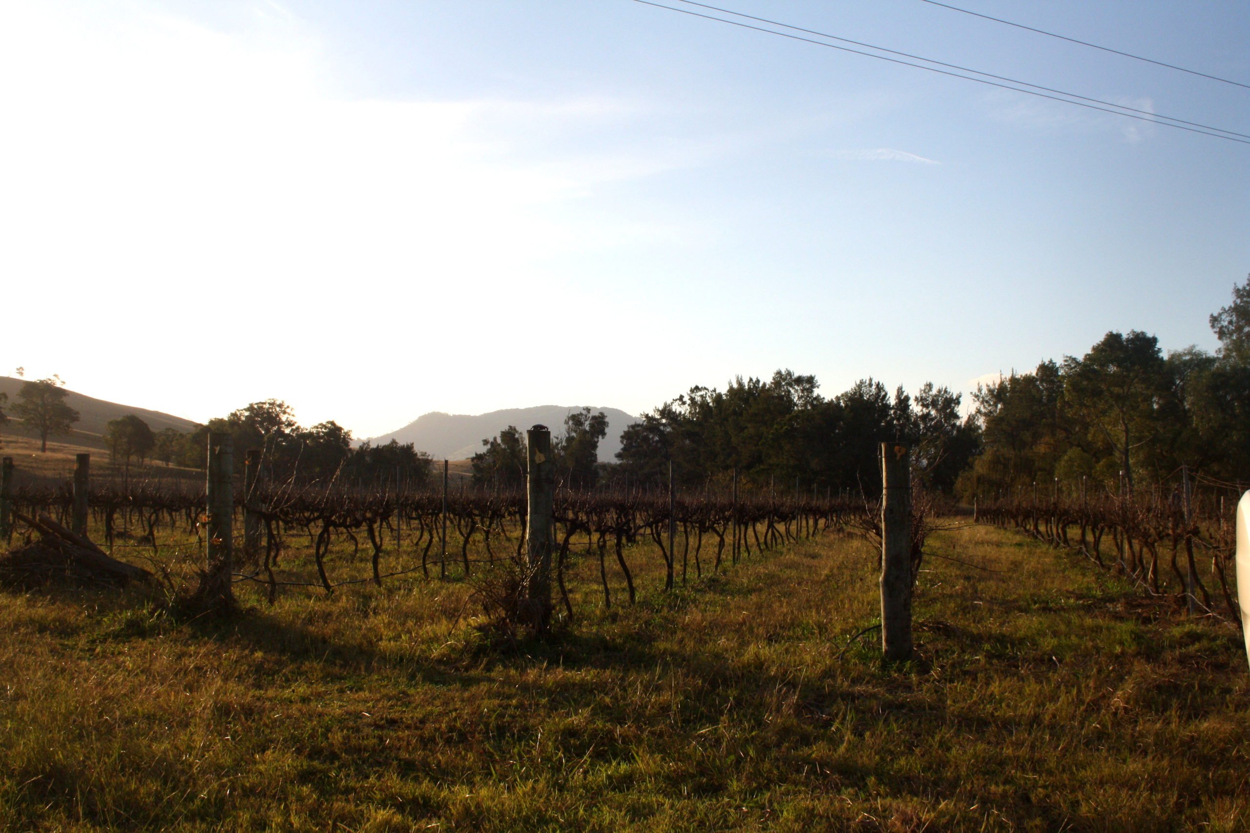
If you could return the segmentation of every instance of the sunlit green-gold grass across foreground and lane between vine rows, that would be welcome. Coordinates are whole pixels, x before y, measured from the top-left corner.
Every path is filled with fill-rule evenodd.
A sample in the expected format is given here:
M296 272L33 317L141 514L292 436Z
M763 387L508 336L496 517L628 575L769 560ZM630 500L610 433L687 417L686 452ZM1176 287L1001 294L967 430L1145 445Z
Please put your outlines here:
M0 593L0 831L1250 827L1239 633L1071 556L938 535L895 667L850 641L862 540L668 597L630 558L635 607L600 607L588 558L571 629L511 647L462 583L244 589L231 621Z

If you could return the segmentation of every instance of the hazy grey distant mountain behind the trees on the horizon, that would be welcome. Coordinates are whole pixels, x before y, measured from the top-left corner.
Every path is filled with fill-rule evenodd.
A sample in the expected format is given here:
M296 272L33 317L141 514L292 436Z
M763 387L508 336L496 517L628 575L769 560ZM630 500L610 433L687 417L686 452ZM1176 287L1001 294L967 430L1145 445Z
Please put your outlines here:
M442 413L434 411L418 417L399 431L370 437L370 442L380 445L396 440L411 442L418 451L424 451L435 460L465 460L481 451L481 441L496 436L510 425L520 430L535 425L545 425L552 435L564 431L564 417L582 406L564 407L561 405L540 405L532 408L508 408L469 416L465 413ZM592 413L602 411L608 417L608 436L599 443L600 462L614 462L621 448L621 431L638 422L616 408L590 408Z

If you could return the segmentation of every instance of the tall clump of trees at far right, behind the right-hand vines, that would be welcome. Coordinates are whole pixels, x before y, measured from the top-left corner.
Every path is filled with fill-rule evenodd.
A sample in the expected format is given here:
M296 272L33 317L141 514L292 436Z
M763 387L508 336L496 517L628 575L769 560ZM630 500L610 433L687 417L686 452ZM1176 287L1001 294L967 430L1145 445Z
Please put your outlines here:
M1165 355L1152 335L1109 332L1084 356L980 386L982 450L961 491L1041 483L1130 495L1175 480L1181 467L1250 483L1250 277L1210 326L1214 353Z

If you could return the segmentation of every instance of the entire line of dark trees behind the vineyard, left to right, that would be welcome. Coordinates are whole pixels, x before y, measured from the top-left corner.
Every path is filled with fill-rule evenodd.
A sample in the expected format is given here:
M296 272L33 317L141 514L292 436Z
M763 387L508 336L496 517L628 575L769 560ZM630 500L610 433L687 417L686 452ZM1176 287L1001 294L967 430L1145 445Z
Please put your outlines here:
M615 463L598 461L608 418L590 408L570 412L552 451L560 481L572 488L608 483L660 486L671 463L685 488L792 483L810 490L880 491L876 450L882 441L912 448L915 476L928 488L970 500L1036 483L1065 490L1132 493L1161 485L1185 467L1195 475L1250 485L1250 276L1231 302L1210 316L1214 353L1170 351L1149 333L1108 332L1082 356L1044 361L979 385L974 408L962 397L925 383L915 396L864 378L838 396L819 392L815 376L779 370L742 378L724 391L695 386L629 426ZM10 416L48 437L79 418L65 403L59 377L26 382ZM109 423L115 458L158 460L201 468L209 431L235 435L235 447L262 448L268 471L315 478L401 476L428 482L432 460L411 443L352 447L334 421L296 423L279 400L252 402L191 432L152 433L138 416ZM471 460L474 482L512 490L525 483L525 433L509 426L482 440Z

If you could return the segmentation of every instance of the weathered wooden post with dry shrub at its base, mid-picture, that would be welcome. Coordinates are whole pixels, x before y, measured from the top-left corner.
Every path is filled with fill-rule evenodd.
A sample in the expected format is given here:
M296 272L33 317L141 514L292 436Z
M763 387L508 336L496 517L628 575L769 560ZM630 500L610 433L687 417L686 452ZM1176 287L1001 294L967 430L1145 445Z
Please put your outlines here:
M551 471L551 432L536 425L525 432L528 448L526 491L529 515L525 522L526 569L521 584L522 622L536 633L551 621L551 510L555 502Z

